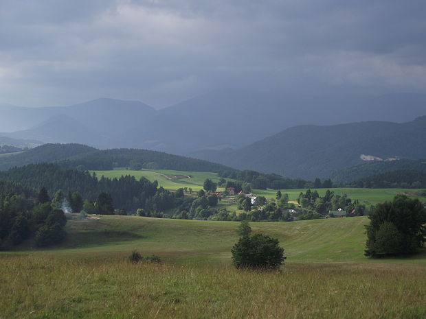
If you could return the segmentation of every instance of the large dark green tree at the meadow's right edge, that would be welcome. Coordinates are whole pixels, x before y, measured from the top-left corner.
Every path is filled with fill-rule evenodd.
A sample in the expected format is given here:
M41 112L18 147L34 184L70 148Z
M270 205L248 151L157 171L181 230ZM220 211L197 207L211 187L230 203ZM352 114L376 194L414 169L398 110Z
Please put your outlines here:
M366 256L410 255L426 242L426 209L418 199L395 196L368 216Z

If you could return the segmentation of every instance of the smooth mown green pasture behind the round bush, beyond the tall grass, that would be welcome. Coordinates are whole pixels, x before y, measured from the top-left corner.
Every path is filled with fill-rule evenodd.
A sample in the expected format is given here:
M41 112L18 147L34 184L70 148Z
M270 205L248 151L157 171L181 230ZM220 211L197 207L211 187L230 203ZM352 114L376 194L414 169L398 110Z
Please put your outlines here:
M139 250L175 263L230 262L238 222L172 220L137 216L101 215L69 220L68 239L60 247L44 250L55 256L93 257L126 255ZM363 256L367 217L333 218L297 222L254 222L254 232L276 237L291 262L371 263ZM27 244L28 245L28 244ZM21 252L28 252L22 246ZM38 252L41 250L37 250ZM423 263L426 255L392 262Z

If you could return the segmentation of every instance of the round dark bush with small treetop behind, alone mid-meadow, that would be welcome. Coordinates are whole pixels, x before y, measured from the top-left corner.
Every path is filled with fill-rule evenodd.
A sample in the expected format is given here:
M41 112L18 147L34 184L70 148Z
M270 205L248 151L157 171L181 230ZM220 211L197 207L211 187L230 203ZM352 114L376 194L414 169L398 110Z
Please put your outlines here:
M286 259L278 239L262 234L251 235L247 222L238 227L238 233L241 237L231 250L236 268L276 269Z

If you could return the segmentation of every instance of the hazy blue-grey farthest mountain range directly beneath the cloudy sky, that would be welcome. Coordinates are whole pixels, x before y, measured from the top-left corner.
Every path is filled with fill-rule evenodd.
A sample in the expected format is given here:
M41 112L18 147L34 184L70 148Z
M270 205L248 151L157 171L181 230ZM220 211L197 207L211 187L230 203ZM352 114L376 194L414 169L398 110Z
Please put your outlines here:
M155 110L136 101L96 99L65 107L0 104L0 136L45 143L133 147L174 154L235 150L298 125L409 121L426 95L305 96L221 90Z

